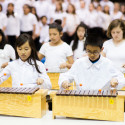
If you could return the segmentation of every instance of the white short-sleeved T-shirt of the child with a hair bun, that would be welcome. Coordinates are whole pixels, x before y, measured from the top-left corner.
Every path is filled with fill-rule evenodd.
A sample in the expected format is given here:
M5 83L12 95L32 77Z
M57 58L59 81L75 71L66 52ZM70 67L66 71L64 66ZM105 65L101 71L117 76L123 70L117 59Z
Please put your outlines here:
M65 42L58 46L45 43L39 52L45 56L45 67L49 72L60 72L60 64L66 63L67 57L73 55L71 47Z

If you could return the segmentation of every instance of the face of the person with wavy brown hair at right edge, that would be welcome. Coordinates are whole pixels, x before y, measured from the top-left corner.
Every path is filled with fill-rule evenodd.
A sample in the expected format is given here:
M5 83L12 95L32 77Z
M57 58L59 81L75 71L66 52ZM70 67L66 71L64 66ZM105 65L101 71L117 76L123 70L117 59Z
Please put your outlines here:
M120 27L115 27L111 31L111 35L114 41L119 42L123 39L123 31Z

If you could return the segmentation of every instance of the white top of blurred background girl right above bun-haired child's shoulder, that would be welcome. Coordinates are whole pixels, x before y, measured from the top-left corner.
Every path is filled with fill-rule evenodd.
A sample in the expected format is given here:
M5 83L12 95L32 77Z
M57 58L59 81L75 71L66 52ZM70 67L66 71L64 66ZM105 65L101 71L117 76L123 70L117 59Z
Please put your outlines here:
M80 24L80 19L77 15L67 14L66 15L66 31L73 32L76 27Z

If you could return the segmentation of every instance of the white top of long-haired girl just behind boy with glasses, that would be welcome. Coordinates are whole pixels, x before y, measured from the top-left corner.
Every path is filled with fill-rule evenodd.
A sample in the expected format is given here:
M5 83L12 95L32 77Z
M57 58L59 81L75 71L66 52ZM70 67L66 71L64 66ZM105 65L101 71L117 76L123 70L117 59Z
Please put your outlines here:
M74 60L79 59L79 58L81 58L81 57L84 56L84 54L85 54L85 51L84 51L84 42L85 42L85 38L83 40L78 40L78 47L73 52ZM71 48L73 46L73 43L74 43L74 40L71 41L71 43L70 43Z

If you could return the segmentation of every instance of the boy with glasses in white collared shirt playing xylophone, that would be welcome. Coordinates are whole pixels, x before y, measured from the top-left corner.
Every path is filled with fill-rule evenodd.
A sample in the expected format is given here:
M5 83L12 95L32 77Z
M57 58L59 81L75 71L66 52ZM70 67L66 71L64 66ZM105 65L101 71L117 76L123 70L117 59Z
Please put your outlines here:
M60 87L67 89L73 80L76 82L77 89L84 90L103 89L106 84L108 87L124 85L123 74L114 68L110 60L101 56L102 46L103 41L99 36L88 34L85 41L88 56L76 60L68 72L60 75ZM80 83L82 86L78 86Z

